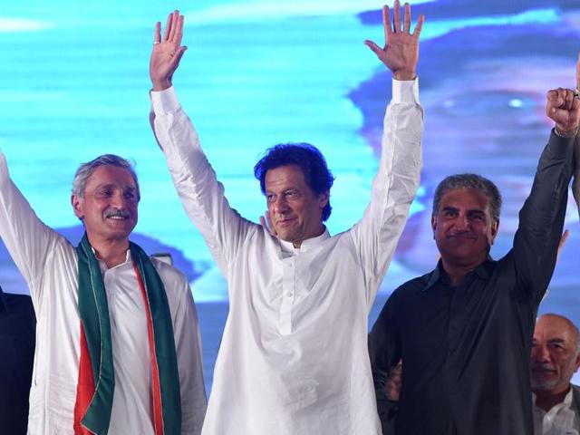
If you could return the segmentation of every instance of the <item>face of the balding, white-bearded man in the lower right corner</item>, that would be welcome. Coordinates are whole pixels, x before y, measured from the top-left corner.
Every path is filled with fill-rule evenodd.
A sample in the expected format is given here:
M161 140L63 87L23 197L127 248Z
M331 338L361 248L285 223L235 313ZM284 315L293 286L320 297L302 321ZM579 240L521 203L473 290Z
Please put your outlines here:
M530 375L532 390L564 392L580 366L575 328L559 315L546 314L536 322Z

